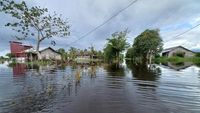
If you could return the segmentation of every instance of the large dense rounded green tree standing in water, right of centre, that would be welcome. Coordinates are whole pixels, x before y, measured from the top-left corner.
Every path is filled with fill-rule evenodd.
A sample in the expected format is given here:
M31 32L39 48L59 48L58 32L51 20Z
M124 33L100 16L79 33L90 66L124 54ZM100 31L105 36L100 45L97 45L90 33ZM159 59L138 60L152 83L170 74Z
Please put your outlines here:
M137 36L133 43L134 57L139 57L143 62L151 63L152 57L159 54L163 49L162 39L159 30L145 30Z

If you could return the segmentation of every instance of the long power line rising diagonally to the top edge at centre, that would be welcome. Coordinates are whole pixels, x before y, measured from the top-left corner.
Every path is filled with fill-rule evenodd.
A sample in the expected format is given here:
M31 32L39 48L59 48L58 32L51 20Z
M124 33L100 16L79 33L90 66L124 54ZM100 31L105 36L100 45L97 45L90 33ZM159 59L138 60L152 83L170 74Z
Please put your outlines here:
M98 25L97 27L95 27L94 29L90 30L89 32L87 32L86 34L84 34L83 36L81 36L80 38L78 38L77 40L71 42L70 44L68 44L67 46L70 46L73 43L76 43L77 41L85 38L86 36L90 35L91 33L95 32L96 30L98 30L100 27L104 26L105 24L107 24L109 21L111 21L113 18L115 18L116 16L118 16L120 13L122 13L124 10L128 9L130 6L132 6L134 3L136 3L138 0L134 0L132 1L130 4L128 4L126 7L122 8L121 10L119 10L117 13L115 13L114 15L112 15L110 18L108 18L106 21L104 21L103 23L101 23L100 25Z

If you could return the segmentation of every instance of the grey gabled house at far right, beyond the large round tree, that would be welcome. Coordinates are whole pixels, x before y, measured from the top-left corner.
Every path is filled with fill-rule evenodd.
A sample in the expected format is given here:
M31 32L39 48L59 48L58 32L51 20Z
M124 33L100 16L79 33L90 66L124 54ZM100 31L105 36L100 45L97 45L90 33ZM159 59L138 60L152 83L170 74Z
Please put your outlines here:
M173 56L193 57L194 55L195 55L195 52L187 48L184 48L183 46L177 46L177 47L164 49L161 54L161 56L164 56L164 57L173 57Z

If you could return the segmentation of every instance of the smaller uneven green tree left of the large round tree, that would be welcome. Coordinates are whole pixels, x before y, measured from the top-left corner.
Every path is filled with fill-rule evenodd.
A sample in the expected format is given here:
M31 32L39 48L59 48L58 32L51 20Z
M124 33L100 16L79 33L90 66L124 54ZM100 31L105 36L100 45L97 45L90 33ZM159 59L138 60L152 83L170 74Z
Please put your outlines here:
M104 49L106 58L120 60L120 53L129 47L129 44L126 42L127 33L128 30L115 32L112 34L112 38L107 39L108 43Z

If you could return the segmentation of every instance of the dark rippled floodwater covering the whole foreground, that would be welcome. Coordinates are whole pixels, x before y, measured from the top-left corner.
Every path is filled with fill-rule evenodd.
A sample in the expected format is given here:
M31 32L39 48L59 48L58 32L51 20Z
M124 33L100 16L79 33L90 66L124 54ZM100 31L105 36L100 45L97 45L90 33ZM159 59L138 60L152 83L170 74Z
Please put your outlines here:
M200 113L200 68L4 63L0 113Z

